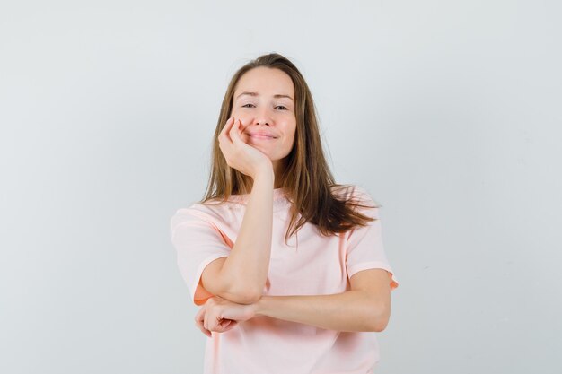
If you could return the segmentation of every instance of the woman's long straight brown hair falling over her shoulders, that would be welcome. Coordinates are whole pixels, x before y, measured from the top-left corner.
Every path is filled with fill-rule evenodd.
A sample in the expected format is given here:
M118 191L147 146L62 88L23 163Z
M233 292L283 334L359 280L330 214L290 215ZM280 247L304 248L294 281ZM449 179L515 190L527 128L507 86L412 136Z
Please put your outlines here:
M199 203L205 204L210 200L226 202L231 195L246 194L251 190L251 178L227 165L217 139L231 116L236 84L243 74L259 66L279 69L288 74L294 83L294 145L285 157L285 171L281 177L285 196L293 203L285 242L306 222L315 224L321 235L330 236L373 221L373 218L357 212L356 207L378 208L379 205L360 204L356 198L338 198L338 191L345 190L346 186L336 184L324 157L312 93L296 66L277 53L251 60L233 74L216 124L206 193Z

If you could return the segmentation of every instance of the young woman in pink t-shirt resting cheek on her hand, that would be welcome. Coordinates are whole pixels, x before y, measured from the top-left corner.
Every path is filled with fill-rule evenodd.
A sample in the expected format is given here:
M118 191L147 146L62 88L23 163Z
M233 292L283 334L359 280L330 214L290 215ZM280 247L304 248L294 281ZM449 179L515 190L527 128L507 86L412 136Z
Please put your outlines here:
M335 183L311 91L287 58L224 95L206 196L171 217L205 373L371 373L398 287L380 206Z

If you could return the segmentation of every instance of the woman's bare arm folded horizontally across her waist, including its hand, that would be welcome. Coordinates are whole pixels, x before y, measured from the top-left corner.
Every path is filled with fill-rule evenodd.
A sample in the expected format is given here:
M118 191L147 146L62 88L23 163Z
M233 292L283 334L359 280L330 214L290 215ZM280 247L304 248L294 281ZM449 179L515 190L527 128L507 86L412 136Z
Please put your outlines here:
M222 333L237 322L268 316L337 331L381 332L391 315L390 282L386 270L368 269L354 274L351 291L343 293L262 296L251 305L212 298L196 315L196 325L211 335L211 331Z

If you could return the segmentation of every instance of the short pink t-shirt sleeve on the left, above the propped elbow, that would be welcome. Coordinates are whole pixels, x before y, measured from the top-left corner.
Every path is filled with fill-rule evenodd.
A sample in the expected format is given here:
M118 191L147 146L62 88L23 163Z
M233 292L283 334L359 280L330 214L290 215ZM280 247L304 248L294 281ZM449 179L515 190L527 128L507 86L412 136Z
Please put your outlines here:
M203 270L215 259L228 257L231 248L212 218L192 208L180 209L171 217L170 235L191 300L202 305L213 296L201 283Z

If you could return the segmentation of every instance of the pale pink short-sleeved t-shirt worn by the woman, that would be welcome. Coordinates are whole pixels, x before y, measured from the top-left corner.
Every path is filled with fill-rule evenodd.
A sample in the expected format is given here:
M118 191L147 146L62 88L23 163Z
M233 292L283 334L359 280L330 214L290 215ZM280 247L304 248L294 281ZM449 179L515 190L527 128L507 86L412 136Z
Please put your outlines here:
M350 186L346 194L373 200L363 188ZM201 274L218 257L227 257L241 227L249 195L229 202L193 204L171 217L171 241L191 300L202 305L212 296ZM350 290L357 272L382 268L391 273L391 290L398 287L382 246L381 223L344 234L322 237L307 222L285 244L290 202L282 188L274 190L273 231L268 282L263 295L324 295ZM378 218L379 209L362 209ZM373 332L339 332L273 317L258 316L232 330L206 339L205 374L365 374L379 361Z

